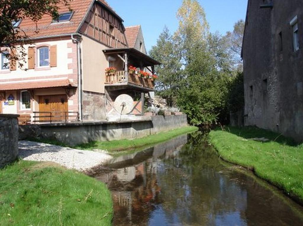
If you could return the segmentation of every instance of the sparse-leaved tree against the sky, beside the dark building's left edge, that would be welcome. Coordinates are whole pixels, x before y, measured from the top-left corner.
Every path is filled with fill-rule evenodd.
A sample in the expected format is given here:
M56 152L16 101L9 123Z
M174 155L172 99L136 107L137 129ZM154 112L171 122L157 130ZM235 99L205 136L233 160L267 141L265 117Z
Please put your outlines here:
M242 50L242 41L244 35L245 22L239 20L234 25L234 30L232 32L228 31L225 35L225 39L229 44L230 54L234 64L240 69L243 70L243 64L241 61L241 50Z

